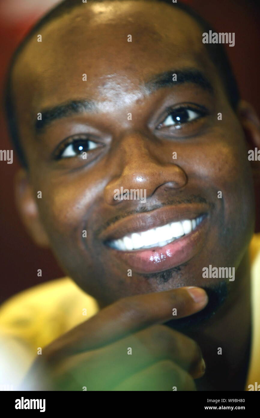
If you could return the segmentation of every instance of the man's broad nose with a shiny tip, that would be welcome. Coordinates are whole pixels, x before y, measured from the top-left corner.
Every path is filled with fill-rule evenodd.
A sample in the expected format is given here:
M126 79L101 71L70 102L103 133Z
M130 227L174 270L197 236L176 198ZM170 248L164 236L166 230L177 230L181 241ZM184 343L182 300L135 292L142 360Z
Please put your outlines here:
M122 138L114 158L117 175L111 179L104 191L107 204L120 204L115 192L123 189L145 190L146 199L155 191L181 189L187 184L187 175L168 155L164 155L157 140L140 133L128 133ZM171 162L169 162L171 161ZM122 199L122 198L121 198Z

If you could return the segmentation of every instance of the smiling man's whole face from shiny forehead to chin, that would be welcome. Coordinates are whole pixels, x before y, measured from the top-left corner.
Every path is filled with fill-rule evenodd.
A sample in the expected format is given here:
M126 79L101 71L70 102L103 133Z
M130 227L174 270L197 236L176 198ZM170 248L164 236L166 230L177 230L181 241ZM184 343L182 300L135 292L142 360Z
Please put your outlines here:
M40 34L15 68L15 104L35 201L66 274L108 304L214 287L219 278L202 277L209 265L237 272L254 225L252 177L194 20L159 3L87 3ZM121 187L146 201L114 199Z

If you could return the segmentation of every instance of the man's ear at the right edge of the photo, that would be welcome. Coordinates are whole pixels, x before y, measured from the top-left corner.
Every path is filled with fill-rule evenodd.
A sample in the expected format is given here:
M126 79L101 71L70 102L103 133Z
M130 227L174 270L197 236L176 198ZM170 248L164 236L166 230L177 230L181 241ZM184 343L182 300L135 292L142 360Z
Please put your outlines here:
M245 100L240 100L237 107L237 116L245 132L248 150L255 148L260 151L260 120L252 105ZM256 161L250 161L253 177L256 183L260 182L260 152Z

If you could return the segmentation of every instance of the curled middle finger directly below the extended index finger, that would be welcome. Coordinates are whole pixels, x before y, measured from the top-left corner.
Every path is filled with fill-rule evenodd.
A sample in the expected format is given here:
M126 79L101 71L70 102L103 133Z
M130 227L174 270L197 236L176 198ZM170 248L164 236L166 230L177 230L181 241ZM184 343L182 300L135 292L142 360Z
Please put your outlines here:
M204 374L202 353L197 343L165 325L154 325L106 347L66 358L56 364L55 374L61 377L61 382L65 381L65 385L71 380L81 382L78 387L111 390L134 373L167 359L193 378Z

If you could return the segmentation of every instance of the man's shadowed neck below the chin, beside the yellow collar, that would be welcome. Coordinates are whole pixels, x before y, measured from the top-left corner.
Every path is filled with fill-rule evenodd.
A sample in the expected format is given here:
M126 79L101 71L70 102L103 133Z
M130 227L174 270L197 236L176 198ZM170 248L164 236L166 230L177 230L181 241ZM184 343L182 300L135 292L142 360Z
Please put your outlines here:
M248 253L235 280L217 314L196 331L185 333L199 344L206 363L204 377L196 380L197 390L245 390L251 345Z

